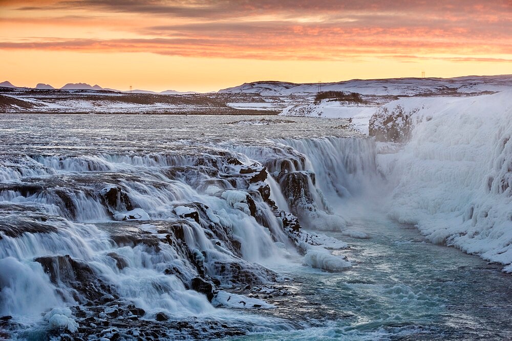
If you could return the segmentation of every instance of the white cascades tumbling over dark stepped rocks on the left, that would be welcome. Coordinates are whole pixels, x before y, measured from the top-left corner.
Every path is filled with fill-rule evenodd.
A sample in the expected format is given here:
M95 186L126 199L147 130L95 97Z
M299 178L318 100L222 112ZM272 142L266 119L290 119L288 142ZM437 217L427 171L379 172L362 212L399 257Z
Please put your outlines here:
M138 137L140 146L126 150L125 136L73 124L65 122L67 142L55 146L42 134L3 140L0 315L8 337L216 337L259 331L262 321L303 328L215 307L272 308L237 288L288 281L271 268L300 262L301 253L313 267L350 266L319 246L346 244L300 230L319 218L331 229L344 221L292 140L148 145ZM337 139L325 145L343 145Z

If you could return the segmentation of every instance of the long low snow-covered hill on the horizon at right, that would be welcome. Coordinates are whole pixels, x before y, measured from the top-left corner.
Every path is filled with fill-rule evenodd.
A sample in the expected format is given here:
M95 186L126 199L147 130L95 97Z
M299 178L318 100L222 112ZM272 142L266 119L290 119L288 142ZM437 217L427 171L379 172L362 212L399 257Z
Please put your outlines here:
M433 95L499 92L512 88L512 75L465 76L456 78L353 79L322 83L322 91L349 91L363 95ZM219 93L250 93L263 96L307 96L318 92L318 83L260 81L219 90Z

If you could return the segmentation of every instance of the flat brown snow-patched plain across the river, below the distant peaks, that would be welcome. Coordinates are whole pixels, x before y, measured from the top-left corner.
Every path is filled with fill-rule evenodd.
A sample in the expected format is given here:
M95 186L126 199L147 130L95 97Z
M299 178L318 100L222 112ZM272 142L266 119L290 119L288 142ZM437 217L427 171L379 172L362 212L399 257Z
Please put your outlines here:
M233 103L228 103L233 102ZM272 115L281 99L250 94L122 93L105 89L28 89L0 87L0 112L202 113Z

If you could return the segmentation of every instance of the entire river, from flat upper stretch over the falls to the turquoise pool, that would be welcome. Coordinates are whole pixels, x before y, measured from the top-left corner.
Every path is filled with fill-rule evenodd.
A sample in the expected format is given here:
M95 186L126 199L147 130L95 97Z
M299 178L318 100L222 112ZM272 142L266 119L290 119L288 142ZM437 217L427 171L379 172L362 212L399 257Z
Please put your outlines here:
M0 339L512 337L510 276L386 218L345 120L1 119Z

